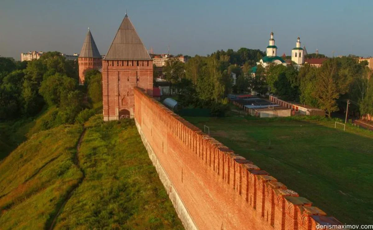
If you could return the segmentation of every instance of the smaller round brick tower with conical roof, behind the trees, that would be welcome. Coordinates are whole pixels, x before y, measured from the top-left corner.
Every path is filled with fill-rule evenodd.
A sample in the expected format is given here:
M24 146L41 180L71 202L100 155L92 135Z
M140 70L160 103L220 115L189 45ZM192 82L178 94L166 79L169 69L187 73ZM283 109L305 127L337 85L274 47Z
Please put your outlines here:
M90 29L83 43L82 50L78 57L79 84L84 84L84 72L87 69L100 69L102 67L101 54L98 52L96 43L93 40Z

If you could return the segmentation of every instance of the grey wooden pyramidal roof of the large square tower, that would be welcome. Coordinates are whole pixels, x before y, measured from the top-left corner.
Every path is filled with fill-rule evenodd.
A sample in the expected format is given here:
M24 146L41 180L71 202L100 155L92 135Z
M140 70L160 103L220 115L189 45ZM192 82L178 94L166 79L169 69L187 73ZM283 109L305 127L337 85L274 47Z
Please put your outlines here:
M107 51L105 60L152 60L127 13Z

